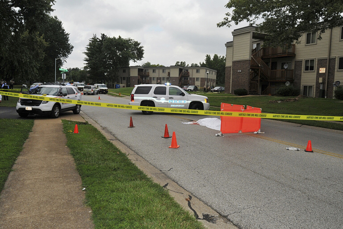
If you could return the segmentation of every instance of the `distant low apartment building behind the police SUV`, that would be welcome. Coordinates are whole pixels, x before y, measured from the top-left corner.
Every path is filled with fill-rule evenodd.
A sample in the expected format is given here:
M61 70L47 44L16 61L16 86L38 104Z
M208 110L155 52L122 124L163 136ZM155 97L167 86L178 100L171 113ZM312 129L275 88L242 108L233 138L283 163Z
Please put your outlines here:
M141 67L121 68L120 84L133 87L138 84L171 83L183 87L196 85L199 89L204 85L216 86L217 71L205 67Z

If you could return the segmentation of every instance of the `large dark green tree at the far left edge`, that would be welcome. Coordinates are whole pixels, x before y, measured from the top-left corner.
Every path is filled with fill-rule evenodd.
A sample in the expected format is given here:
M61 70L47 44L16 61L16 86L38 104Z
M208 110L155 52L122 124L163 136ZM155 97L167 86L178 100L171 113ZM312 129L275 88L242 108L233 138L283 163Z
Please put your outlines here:
M62 23L50 16L53 3L54 0L0 1L1 77L18 81L38 80L41 76L43 80L46 75L44 69L54 72L54 66L48 66L52 59L49 55L57 52L53 59L60 57L59 64L62 64L62 59L70 54L71 50L65 51L61 43L52 49L53 40L59 37L62 28ZM57 22L59 27L52 25L51 21ZM68 41L67 46L71 48Z

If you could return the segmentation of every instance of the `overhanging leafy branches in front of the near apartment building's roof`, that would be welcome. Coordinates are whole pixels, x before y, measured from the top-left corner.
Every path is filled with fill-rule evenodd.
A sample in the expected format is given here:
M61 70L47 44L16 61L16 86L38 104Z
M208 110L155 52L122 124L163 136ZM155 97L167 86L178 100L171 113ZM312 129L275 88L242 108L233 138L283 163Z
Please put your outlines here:
M225 7L232 12L218 27L246 21L267 34L264 45L271 47L298 42L304 32L319 31L321 39L326 29L343 25L342 0L229 0Z

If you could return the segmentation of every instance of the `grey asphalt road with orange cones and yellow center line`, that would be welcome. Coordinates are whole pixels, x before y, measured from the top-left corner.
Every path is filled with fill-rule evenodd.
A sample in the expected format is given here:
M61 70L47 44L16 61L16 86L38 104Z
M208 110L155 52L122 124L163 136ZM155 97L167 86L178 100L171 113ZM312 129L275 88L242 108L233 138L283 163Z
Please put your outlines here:
M128 104L128 98L83 96ZM182 124L209 116L82 106L148 162L242 229L342 229L343 131L262 120L265 134ZM132 117L134 128L128 128ZM170 149L175 131L178 149ZM308 140L315 153L306 153ZM301 148L289 151L286 147Z

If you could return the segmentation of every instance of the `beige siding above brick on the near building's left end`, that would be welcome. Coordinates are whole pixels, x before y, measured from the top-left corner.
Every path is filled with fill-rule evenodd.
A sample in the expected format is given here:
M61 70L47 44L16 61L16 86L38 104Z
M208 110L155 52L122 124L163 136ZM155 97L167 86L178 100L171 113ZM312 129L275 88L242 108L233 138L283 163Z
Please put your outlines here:
M233 36L232 61L250 60L251 57L251 33L243 33Z

